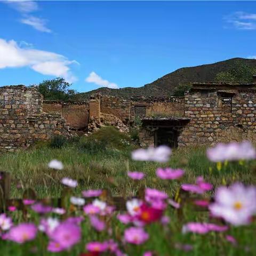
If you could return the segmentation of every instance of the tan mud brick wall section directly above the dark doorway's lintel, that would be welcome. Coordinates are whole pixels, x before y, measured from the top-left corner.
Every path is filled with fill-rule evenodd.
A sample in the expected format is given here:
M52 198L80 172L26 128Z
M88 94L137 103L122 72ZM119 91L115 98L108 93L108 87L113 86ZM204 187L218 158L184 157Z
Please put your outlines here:
M183 116L184 97L132 97L130 121L145 107L145 116Z

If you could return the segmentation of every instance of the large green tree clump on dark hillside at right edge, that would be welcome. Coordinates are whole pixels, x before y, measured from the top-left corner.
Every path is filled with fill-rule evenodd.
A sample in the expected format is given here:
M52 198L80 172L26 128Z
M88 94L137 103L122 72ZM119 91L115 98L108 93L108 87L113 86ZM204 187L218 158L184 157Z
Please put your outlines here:
M252 76L256 74L256 68L250 67L242 61L236 60L227 70L221 71L215 77L217 82L251 83Z

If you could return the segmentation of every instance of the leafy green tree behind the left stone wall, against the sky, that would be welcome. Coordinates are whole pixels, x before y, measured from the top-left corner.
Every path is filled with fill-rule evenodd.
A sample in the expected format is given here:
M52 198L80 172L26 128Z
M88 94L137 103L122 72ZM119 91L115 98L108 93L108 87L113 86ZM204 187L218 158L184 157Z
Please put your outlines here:
M37 85L37 89L43 94L45 100L68 101L76 98L76 91L70 90L71 84L62 77L44 80Z

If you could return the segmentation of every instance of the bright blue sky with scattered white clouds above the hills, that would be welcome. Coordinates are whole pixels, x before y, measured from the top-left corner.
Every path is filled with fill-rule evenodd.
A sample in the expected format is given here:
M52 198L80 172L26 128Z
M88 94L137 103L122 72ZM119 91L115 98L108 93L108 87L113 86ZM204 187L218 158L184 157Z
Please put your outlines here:
M0 1L0 86L57 76L85 92L256 58L256 2Z

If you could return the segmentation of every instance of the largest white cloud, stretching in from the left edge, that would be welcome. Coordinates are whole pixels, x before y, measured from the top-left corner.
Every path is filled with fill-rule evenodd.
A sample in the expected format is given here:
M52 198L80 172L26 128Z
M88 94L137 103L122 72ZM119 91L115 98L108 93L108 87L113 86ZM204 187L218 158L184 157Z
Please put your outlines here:
M54 52L21 48L13 40L8 42L0 38L0 56L0 69L27 66L43 75L61 76L69 83L77 80L69 67L76 61Z

